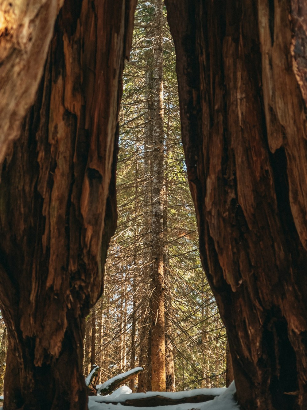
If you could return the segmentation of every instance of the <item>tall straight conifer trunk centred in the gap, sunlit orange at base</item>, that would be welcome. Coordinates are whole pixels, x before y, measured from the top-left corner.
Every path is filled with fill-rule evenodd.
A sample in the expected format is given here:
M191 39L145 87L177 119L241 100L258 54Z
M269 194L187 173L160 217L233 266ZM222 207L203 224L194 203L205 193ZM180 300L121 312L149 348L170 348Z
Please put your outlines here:
M163 267L163 1L156 0L154 30L154 129L153 129L153 183L151 221L151 281L153 290L151 308L151 389L165 391L165 318Z

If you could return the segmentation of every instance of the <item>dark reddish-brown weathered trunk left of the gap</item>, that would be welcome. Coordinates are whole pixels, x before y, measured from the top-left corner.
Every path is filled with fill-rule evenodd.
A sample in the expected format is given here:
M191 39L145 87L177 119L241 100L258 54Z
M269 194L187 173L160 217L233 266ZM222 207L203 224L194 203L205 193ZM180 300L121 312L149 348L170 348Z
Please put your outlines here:
M134 8L134 0L65 2L36 101L3 162L6 410L87 408L84 317L102 292L115 228L117 113Z

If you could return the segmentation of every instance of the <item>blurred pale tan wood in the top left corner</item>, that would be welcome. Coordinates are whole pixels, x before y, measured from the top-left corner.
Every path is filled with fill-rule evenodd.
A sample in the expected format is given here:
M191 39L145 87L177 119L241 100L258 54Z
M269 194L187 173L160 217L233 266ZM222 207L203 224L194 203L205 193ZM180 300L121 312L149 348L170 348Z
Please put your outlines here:
M34 102L63 0L0 0L0 164Z

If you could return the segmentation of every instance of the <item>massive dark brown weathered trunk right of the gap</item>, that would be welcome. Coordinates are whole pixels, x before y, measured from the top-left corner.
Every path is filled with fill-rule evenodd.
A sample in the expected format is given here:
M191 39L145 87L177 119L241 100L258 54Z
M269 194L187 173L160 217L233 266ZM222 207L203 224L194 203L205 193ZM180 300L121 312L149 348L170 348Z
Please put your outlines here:
M165 3L201 258L239 403L305 409L307 2Z

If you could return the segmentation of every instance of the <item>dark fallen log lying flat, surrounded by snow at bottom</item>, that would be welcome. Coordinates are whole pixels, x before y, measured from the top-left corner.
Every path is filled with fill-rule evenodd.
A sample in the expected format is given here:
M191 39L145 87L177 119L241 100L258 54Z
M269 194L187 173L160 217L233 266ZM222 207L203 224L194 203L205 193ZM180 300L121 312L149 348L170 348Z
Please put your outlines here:
M104 401L106 404L118 404L124 406L134 406L134 407L156 407L156 406L167 406L167 405L178 405L185 403L205 403L214 399L214 395L198 394L197 396L183 397L182 399L172 399L170 397L156 396L142 397L141 399L129 399L129 394L127 394L127 399L123 401Z

